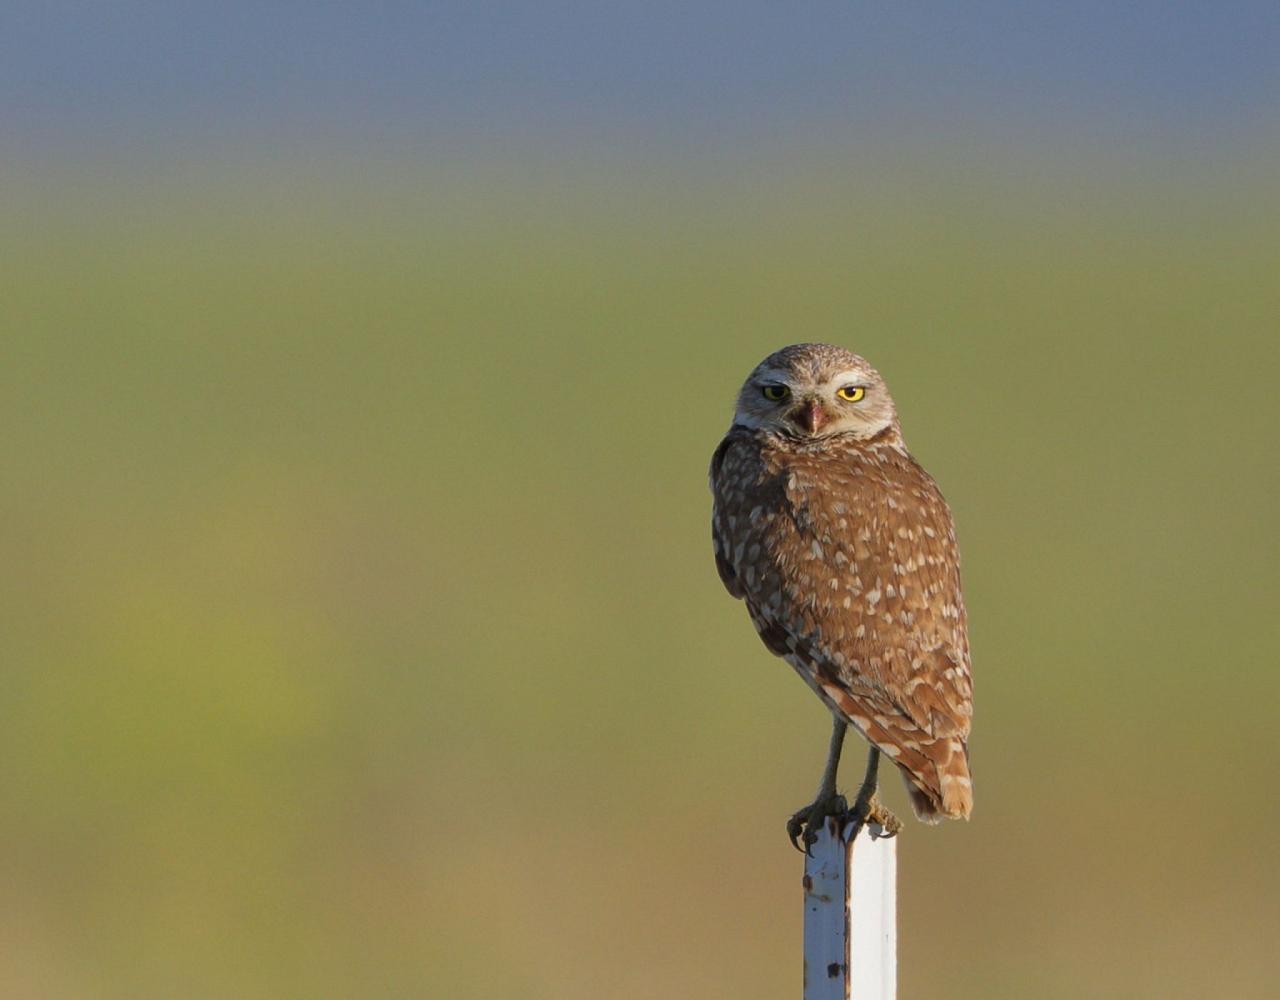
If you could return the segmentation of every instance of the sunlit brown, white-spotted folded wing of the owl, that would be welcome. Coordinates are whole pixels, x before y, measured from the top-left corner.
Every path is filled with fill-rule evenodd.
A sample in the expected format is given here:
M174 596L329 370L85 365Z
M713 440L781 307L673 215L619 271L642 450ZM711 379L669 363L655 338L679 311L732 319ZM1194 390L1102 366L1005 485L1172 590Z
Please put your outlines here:
M850 691L933 739L964 739L973 686L951 512L905 452L842 457L799 457L790 493L805 516L792 547L809 543L801 576L814 598L783 603Z

